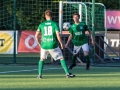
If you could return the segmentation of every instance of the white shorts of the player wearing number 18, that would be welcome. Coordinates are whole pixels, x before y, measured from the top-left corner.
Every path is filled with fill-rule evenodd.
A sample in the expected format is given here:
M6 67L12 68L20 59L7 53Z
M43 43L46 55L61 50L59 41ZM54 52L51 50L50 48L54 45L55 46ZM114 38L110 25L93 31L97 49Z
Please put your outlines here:
M59 47L55 49L48 49L48 50L41 48L41 54L40 54L41 58L47 59L48 53L50 53L50 55L53 57L54 60L63 58L62 51L60 50Z

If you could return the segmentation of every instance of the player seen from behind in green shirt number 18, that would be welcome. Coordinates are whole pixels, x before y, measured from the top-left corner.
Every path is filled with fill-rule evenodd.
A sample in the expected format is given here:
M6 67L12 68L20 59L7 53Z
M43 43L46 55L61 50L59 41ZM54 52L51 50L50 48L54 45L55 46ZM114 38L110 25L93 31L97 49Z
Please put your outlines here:
M56 22L52 20L52 11L47 10L45 11L45 18L46 21L41 23L38 26L38 29L35 34L35 38L41 47L41 56L38 64L38 78L42 78L42 70L44 66L44 60L46 59L48 53L53 57L54 60L60 60L60 63L66 73L67 78L75 77L75 75L69 73L69 69L66 65L66 62L64 60L63 54L61 52L61 49L58 46L58 41L61 45L61 48L64 48L64 45L62 43L60 33L59 33L59 26ZM41 41L38 37L39 34L41 34Z

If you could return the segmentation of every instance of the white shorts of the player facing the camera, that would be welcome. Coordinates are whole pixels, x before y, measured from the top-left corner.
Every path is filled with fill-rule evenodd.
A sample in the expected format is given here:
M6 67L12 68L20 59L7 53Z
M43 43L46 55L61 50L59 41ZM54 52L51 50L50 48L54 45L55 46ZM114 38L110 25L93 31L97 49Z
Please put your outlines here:
M83 49L83 51L89 51L88 43L83 44L82 46L75 46L74 45L73 54L77 54L80 51L81 48Z

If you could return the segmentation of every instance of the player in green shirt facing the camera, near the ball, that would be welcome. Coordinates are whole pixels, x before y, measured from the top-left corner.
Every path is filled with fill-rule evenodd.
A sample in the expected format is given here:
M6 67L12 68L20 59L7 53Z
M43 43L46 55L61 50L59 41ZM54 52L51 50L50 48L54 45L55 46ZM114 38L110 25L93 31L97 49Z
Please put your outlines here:
M88 29L87 25L84 22L79 22L80 15L78 13L73 14L74 24L70 27L67 43L65 47L68 46L71 39L73 39L74 49L72 56L72 64L69 69L72 69L76 66L77 54L82 48L84 51L84 57L86 59L86 70L90 69L90 58L89 58L89 46L87 42L87 37L85 36L88 33L92 40L92 45L94 45L94 39L92 37L91 31Z

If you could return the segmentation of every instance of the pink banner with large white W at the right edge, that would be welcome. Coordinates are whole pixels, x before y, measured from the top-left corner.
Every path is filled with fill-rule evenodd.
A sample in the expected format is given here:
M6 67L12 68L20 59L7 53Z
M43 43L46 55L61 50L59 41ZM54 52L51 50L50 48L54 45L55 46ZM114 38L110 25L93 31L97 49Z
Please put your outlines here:
M120 11L106 11L106 28L120 29Z

